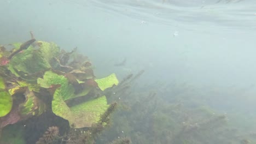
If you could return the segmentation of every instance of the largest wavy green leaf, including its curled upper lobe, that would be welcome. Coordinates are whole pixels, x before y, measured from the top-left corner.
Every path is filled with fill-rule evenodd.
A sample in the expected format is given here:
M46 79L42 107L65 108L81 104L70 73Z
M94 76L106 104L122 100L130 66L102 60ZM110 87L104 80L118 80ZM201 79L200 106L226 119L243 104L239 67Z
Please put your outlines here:
M105 96L68 107L65 100L86 95L89 89L85 88L82 93L74 95L74 88L69 84L68 79L53 71L46 71L43 79L38 78L37 82L44 88L56 84L61 85L54 92L51 107L55 115L67 119L69 124L74 125L75 128L91 127L92 123L96 123L108 108Z

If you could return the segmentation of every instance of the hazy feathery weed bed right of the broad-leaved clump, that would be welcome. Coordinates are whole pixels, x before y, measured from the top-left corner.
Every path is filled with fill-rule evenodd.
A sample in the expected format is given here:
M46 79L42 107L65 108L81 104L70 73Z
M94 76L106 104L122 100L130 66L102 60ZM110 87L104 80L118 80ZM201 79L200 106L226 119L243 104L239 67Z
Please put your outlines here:
M98 143L127 136L133 143L255 143L253 128L242 130L235 124L238 119L206 104L204 99L213 100L210 94L184 84L158 82L148 86L137 83L132 89L111 95L111 100L119 99L119 109L113 114L112 127L104 131Z

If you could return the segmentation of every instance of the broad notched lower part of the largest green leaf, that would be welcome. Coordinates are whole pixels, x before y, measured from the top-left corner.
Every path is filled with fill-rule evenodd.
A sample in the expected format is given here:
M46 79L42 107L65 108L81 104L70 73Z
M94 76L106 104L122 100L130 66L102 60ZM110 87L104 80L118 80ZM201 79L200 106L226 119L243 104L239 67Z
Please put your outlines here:
M52 109L55 115L67 119L69 125L74 128L91 127L93 123L100 120L100 116L108 109L107 99L102 96L84 103L68 107L60 97L57 89L52 102Z

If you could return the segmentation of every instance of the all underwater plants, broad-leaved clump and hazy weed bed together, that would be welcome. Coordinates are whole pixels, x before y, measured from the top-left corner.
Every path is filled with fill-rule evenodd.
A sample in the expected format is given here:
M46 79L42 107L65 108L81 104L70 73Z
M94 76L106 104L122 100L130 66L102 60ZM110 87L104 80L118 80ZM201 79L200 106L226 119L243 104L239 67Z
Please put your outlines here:
M33 35L0 47L0 143L256 141L253 131L230 121L232 115L206 105L206 99L223 103L218 92L214 99L185 84L142 86L136 80L144 70L120 82L115 74L96 79L76 48L66 52Z

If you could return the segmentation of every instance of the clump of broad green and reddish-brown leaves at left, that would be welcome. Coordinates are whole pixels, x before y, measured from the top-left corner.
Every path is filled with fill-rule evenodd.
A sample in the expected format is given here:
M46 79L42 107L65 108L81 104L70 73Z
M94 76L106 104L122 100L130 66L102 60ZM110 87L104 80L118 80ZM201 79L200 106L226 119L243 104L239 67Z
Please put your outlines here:
M0 48L2 135L14 133L12 125L16 125L24 133L16 134L20 141L53 143L69 139L72 129L106 126L108 121L102 121L102 116L109 117L113 105L107 103L104 90L118 85L115 74L96 80L88 57L33 37ZM33 130L40 132L33 134ZM93 142L93 136L87 138ZM8 139L0 136L0 143Z

